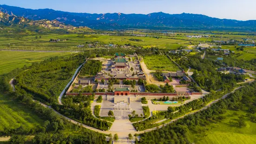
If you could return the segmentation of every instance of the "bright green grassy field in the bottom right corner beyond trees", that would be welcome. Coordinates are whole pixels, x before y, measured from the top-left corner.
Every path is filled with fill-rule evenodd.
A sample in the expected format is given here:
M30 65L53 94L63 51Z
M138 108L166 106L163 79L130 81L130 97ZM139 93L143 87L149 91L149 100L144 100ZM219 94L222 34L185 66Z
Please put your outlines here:
M205 135L192 134L190 137L199 137L196 144L256 144L256 123L245 117L247 126L240 128L237 125L238 116L245 115L246 111L236 111L238 115L234 115L234 112L228 110L221 122L203 127Z

